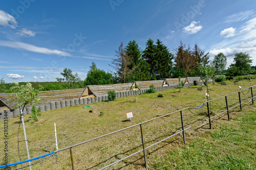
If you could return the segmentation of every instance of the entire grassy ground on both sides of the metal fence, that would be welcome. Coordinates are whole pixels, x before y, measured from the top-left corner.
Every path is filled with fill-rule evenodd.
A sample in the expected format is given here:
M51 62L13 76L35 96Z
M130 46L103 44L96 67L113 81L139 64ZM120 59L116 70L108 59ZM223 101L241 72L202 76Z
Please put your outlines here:
M243 89L255 84L255 79L242 81ZM234 84L229 81L226 86L211 83L210 97L216 99L238 91L239 85L240 82ZM39 122L33 122L30 115L26 115L25 124L30 141L31 158L56 150L54 123L57 129L58 148L61 149L186 107L198 107L205 101L204 91L198 91L198 87L203 86L183 88L181 92L170 89L143 94L137 96L137 102L134 96L129 96L113 102L88 104L87 106L93 106L93 113L89 112L90 108L83 109L82 106L85 105L56 109L43 112ZM256 95L255 87L253 92ZM164 98L157 98L158 93L164 94ZM246 94L247 90L244 93ZM250 95L250 91L246 95L241 94L245 103L249 102ZM238 93L228 96L230 107L237 105L238 101ZM211 115L225 110L225 106L225 99L211 102ZM212 118L211 130L206 122L200 128L185 131L187 144L183 144L182 135L179 134L146 150L149 169L256 169L255 106L251 103L246 106L243 104L243 112L239 109L239 107L232 109L230 121L227 120L226 113ZM198 111L199 109L193 110L193 112ZM198 115L185 110L184 128L202 125L207 118L206 111L205 106ZM100 112L104 112L104 115L99 116ZM134 113L131 122L126 121L127 112ZM0 122L1 127L4 127L3 124L3 121ZM19 117L9 119L9 163L20 161L17 152L18 126ZM143 124L145 145L148 147L180 130L179 112ZM3 135L1 136L4 140ZM22 128L19 140L24 140ZM4 148L3 142L0 143L0 148ZM76 169L98 169L141 149L140 128L137 126L73 148L75 166ZM0 153L4 155L3 150ZM52 157L33 165L33 169L71 169L69 150L59 152L57 155L58 164ZM24 141L20 142L20 156L23 160L27 159ZM144 169L143 164L143 152L141 152L109 169Z

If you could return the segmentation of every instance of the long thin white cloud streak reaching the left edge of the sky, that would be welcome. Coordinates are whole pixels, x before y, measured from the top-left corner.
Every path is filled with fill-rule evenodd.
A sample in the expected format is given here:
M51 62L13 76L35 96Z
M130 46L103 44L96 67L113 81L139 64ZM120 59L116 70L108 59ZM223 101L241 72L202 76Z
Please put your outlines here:
M42 54L49 54L49 55L59 55L59 56L70 56L69 53L59 51L59 50L51 50L49 48L35 46L32 44L27 44L24 42L18 42L18 41L4 41L0 40L0 46L7 46L11 48L21 48L30 52L35 53L42 53Z

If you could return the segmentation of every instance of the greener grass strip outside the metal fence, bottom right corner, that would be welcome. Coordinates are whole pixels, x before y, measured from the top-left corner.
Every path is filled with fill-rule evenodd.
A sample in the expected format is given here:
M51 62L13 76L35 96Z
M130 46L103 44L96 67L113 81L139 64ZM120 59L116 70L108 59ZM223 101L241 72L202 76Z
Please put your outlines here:
M190 140L160 160L154 169L256 169L256 111L244 111L227 125Z

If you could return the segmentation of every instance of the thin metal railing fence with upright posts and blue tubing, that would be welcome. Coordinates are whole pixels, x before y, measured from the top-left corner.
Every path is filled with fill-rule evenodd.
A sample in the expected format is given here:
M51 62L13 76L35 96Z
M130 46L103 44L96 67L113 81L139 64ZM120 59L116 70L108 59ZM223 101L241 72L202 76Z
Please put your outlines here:
M36 158L33 158L33 159L29 159L29 160L26 160L26 161L22 161L22 162L16 162L16 163L11 163L11 164L7 164L7 165L1 165L0 168L2 168L2 167L8 167L8 166L14 166L14 165L17 165L17 164L22 164L22 163L29 162L29 161L33 161L33 160L38 160L38 159L41 159L41 158L44 158L44 157L45 157L44 159L41 159L41 160L39 160L39 161L37 161L37 162L31 164L31 165L34 165L34 164L36 164L36 163L39 163L39 162L41 162L41 161L44 161L44 160L46 160L46 159L52 157L52 156L55 156L55 157L56 157L56 163L57 163L57 153L58 153L58 152L61 152L61 151L65 151L65 150L70 150L70 157L71 157L72 169L75 169L75 158L74 158L73 148L75 148L75 147L77 147L77 146L79 146L79 145L81 145L81 144L85 144L85 143L88 143L88 142L91 142L91 141L94 141L94 140L97 140L97 139L100 139L100 138L103 138L103 137L107 137L107 136L116 134L116 133L118 133L118 132L122 132L122 131L125 131L125 130L127 130L127 129L134 128L134 127L139 127L139 129L140 129L140 138L141 138L141 145L140 145L140 146L142 146L142 148L141 148L139 151L134 152L133 154L130 154L130 155L128 155L128 156L126 156L126 157L124 157L124 158L121 158L121 159L119 159L119 160L117 160L117 161L114 161L114 162L112 162L112 163L110 163L110 164L108 164L108 165L105 165L104 167L101 167L100 169L105 169L105 168L107 168L107 167L110 167L110 166L112 166L112 165L114 165L114 164L116 164L116 163L118 163L118 162L120 162L120 161L123 161L123 160L125 160L125 159L127 159L127 158L130 158L130 157L132 157L132 156L134 156L134 155L136 155L136 154L139 154L139 153L141 153L141 152L143 152L144 166L145 166L145 168L147 168L147 159L146 159L147 153L146 153L146 150L148 150L149 148L153 147L153 146L156 145L156 144L159 144L159 143L161 143L161 142L163 142L163 141L165 141L165 140L167 140L167 139L169 139L169 138L171 138L171 137L174 137L174 136L176 136L176 135L178 135L178 134L181 134L181 133L182 133L183 143L185 144L185 143L186 143L186 140L185 140L185 131L186 131L186 130L188 130L188 129L197 129L197 128L200 128L200 127L204 126L204 125L207 123L207 121L208 121L208 123L209 123L209 129L211 129L211 128L212 128L212 126L211 126L211 119L214 118L214 117L217 117L217 116L219 116L220 114L223 114L223 113L225 113L225 112L227 112L228 120L230 120L229 111L230 111L231 109L236 108L236 107L239 106L239 107L240 107L240 111L242 111L242 104L243 104L243 105L247 105L247 104L249 104L250 102L252 102L252 104L254 104L254 98L255 98L255 96L253 96L253 91L252 91L252 88L253 88L253 87L256 87L256 85L251 86L251 87L248 87L248 88L243 89L243 90L240 90L240 91L237 91L237 92L233 92L233 93L230 93L230 94L221 96L221 97L219 97L219 98L216 98L216 99L213 99L213 100L210 100L210 101L206 101L206 102L202 103L199 107L187 107L187 108L184 108L184 109L181 109L181 110L172 112L172 113L168 113L168 114L165 114L165 115L162 115L162 116L158 116L158 117L156 117L156 118L147 120L147 121L145 121L145 122L142 122L142 123L139 123L139 124L130 126L130 127L126 127L126 128L123 128L123 129L120 129L120 130L117 130L117 131L114 131L114 132L111 132L111 133L108 133L108 134L104 134L104 135L95 137L95 138L93 138L93 139L89 139L89 140L86 140L86 141L83 141L83 142L80 142L80 143L77 143L77 144L74 144L74 145L70 145L69 147L59 149L59 150L57 150L57 151L51 152L51 153L46 154L46 155L43 155L43 156L39 156L39 157L36 157ZM244 92L244 91L247 90L247 89L248 89L248 92ZM243 101L249 100L249 102L246 102L246 103L245 103L245 102L242 102L241 94L247 95L247 94L249 94L249 91L251 91L250 97L249 97L249 98L247 97L246 99L243 100ZM235 99L235 100L234 100L234 99L231 99L231 97L230 97L231 95L233 95L233 96L237 95L239 100L236 101L236 99ZM229 98L229 97L230 97L230 99L231 99L230 101L233 102L232 104L228 104L228 102L230 102L230 101L228 101L228 98ZM218 114L216 114L216 115L211 115L210 103L216 102L217 100L221 100L221 99L225 99L225 102L224 102L225 110L220 110L220 111L219 111L220 113L218 113ZM220 102L220 103L223 103L223 102ZM201 125L197 126L197 127L191 127L191 126L189 126L189 127L187 127L187 128L184 128L183 112L184 112L185 110L189 110L192 114L198 115L198 114L200 114L200 113L202 112L204 106L207 107L206 113L207 113L207 117L208 117L208 118L206 118L206 119L203 121L203 123L202 123ZM194 112L192 111L193 109L200 109L200 111L197 112L197 113L194 113ZM160 141L157 141L157 142L155 142L155 143L149 145L148 147L145 147L145 138L144 138L143 125L146 124L146 123L152 122L152 121L154 121L154 120L156 120L156 119L159 119L159 118L162 118L162 117L167 117L167 116L172 115L172 114L175 114L175 113L180 113L181 130L178 131L178 132L176 132L176 133L174 133L174 134L172 134L172 135L169 135L168 137L165 137L164 139L162 139L162 140L160 140ZM24 167L28 167L28 166L30 166L30 165L27 165L27 166L24 166ZM22 168L22 167L21 167L21 168ZM16 168L16 169L21 169L21 168Z

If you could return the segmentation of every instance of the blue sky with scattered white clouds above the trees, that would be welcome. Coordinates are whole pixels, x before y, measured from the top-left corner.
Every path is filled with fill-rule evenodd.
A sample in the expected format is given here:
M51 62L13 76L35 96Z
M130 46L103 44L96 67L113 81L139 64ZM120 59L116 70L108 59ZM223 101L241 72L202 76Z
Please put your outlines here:
M64 68L86 78L94 61L105 71L121 42L160 39L170 51L197 43L227 66L235 53L256 65L256 1L1 1L0 79L56 81Z

